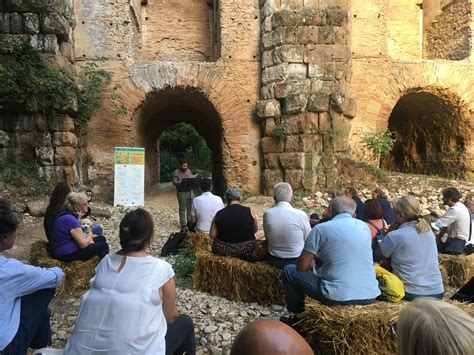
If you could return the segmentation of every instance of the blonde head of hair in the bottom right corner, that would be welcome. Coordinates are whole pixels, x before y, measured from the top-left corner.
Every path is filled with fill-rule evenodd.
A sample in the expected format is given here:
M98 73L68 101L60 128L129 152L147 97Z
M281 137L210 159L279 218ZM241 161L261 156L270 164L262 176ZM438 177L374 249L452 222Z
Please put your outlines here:
M397 352L400 355L474 354L474 318L440 300L415 299L400 312Z

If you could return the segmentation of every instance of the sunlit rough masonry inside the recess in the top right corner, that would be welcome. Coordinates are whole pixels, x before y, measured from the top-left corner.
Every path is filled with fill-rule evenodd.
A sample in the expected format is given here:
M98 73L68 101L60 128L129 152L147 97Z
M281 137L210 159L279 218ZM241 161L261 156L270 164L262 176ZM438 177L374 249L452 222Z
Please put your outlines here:
M456 0L444 6L426 28L427 59L462 60L471 55L471 1Z

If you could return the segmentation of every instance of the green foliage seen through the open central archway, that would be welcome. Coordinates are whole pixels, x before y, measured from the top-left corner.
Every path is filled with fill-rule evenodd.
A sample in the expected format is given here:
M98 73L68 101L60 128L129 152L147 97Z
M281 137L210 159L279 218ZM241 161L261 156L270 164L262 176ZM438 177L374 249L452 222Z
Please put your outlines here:
M211 151L206 141L190 124L181 122L160 136L160 181L171 181L172 172L178 167L179 157L188 159L193 173L210 175Z

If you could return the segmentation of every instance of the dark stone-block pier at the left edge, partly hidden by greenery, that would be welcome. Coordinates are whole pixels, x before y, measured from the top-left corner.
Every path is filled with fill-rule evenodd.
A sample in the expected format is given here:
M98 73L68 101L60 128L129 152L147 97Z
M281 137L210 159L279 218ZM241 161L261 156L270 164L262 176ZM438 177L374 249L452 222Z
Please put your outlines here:
M50 12L52 5L56 11ZM10 1L0 3L0 36L26 41L56 67L73 70L74 40L71 1ZM2 60L0 58L0 60ZM8 60L8 59L6 59ZM74 114L77 103L65 108ZM35 98L27 102L1 102L0 153L36 161L46 179L73 182L78 138L69 115L51 117L38 109Z

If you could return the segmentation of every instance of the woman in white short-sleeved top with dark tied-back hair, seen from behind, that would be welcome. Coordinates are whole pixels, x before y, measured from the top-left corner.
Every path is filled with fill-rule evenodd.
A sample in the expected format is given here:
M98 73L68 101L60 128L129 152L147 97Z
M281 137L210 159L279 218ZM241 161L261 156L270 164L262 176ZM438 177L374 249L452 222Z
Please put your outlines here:
M193 321L176 308L173 269L146 251L153 228L143 209L122 219L122 249L97 266L66 354L195 354Z

